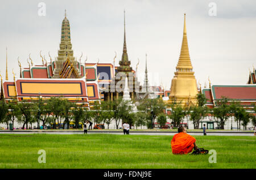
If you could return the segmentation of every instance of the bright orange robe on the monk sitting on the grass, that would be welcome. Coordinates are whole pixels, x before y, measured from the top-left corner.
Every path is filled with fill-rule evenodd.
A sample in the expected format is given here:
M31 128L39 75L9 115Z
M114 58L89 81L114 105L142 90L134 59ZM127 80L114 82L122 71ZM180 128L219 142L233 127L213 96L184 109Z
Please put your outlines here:
M184 132L175 134L171 141L172 153L177 154L187 154L193 151L194 143L196 139Z

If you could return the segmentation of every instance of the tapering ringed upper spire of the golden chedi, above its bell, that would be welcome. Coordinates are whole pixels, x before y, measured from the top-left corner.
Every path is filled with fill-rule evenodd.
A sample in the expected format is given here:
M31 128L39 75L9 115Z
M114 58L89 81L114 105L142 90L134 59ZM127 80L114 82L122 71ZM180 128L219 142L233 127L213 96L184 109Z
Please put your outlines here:
M186 28L186 14L184 14L184 29L183 29L183 40L180 50L180 58L177 63L176 69L189 69L192 71L191 59L189 57L188 40L187 40L187 28Z

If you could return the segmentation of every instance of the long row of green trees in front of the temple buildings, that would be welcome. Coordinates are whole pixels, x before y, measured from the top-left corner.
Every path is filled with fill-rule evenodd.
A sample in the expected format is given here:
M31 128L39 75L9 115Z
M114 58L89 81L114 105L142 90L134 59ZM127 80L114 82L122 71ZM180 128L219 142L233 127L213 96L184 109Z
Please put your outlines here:
M115 127L121 125L122 122L127 122L130 126L136 128L147 126L154 128L157 121L160 126L164 126L167 117L171 119L174 127L180 126L185 117L193 122L194 128L199 128L202 119L208 115L213 115L220 128L224 129L224 125L229 117L232 117L237 122L237 127L242 126L246 129L247 124L251 121L256 125L255 115L246 112L246 110L237 101L230 101L223 97L216 102L214 109L209 109L205 106L207 99L201 93L197 95L198 104L195 106L185 106L183 108L180 102L173 101L170 106L166 106L160 98L144 99L137 106L138 112L134 113L129 102L123 101L122 98L114 101L96 101L92 110L83 105L77 105L76 102L68 101L63 97L51 97L47 100L39 99L38 101L17 102L16 100L6 103L5 100L0 101L0 123L9 123L18 121L22 123L22 128L28 125L32 127L32 123L37 123L40 126L52 125L53 128L64 127L67 124L69 128L70 122L75 123L75 128L79 127L79 123L92 121L95 124L104 124L109 128L110 123L114 122ZM164 110L170 108L170 114L164 114ZM253 112L256 113L254 105Z

